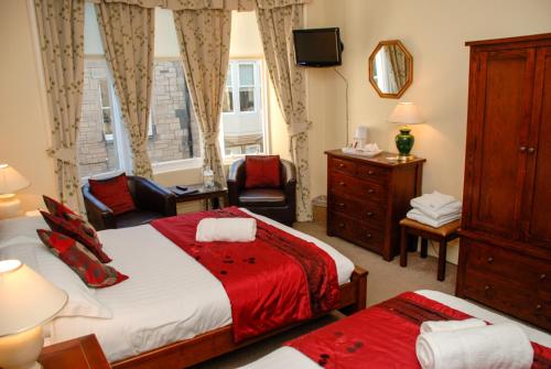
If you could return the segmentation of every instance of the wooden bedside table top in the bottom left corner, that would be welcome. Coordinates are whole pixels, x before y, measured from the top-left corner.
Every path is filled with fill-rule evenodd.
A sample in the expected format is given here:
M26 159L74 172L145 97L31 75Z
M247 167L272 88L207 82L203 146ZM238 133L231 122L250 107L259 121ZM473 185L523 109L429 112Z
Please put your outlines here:
M46 346L39 357L44 369L110 369L95 335Z

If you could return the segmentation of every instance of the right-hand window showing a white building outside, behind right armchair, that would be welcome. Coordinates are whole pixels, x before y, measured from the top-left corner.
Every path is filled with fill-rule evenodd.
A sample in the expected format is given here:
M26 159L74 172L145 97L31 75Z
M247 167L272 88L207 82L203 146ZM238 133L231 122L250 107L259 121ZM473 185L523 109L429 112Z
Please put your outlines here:
M230 61L220 144L225 156L266 152L262 61Z

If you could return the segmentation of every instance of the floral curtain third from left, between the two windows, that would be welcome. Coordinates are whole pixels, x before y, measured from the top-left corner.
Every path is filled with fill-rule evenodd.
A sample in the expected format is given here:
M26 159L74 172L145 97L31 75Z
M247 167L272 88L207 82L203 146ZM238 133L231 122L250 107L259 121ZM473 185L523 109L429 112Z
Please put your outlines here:
M187 88L203 133L203 167L210 167L215 181L225 184L218 133L229 63L231 12L179 10L174 12L174 22Z

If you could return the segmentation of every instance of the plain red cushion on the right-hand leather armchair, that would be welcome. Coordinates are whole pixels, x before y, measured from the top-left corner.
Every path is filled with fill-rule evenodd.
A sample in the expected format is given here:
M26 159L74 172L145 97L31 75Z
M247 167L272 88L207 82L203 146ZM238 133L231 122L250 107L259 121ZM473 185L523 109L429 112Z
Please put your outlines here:
M245 187L280 187L279 155L245 156Z

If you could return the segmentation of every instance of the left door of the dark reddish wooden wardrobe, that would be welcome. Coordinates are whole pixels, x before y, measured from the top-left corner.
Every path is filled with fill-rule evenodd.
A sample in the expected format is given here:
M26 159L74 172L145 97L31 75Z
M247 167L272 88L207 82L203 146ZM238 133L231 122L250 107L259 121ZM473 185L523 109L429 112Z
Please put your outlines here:
M467 141L467 228L520 238L534 50L477 52Z

